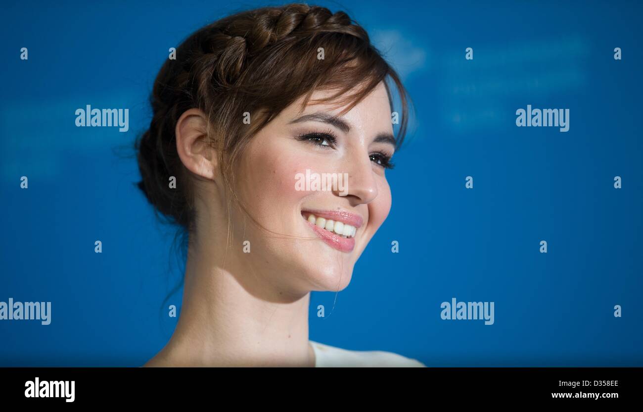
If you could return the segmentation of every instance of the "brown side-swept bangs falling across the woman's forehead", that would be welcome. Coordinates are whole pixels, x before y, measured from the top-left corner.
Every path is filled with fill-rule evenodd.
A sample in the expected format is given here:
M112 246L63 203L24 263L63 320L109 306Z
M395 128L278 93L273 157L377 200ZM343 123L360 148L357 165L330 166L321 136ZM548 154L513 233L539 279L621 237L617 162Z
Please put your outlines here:
M239 93L254 95L258 102L263 102L260 111L264 116L253 127L248 138L299 98L303 97L300 111L308 104L331 104L343 108L339 113L341 116L383 82L391 112L395 112L395 97L399 98L401 104L401 120L395 133L396 148L401 147L408 124L408 95L395 70L368 39L340 32L317 33L290 46L268 48L266 55L257 56L255 62L256 66L252 65L254 68L248 68L249 79L245 83L253 86L239 90ZM280 64L275 66L276 62ZM268 70L271 70L271 84L251 80L252 77L266 79ZM266 94L266 90L272 90L274 95ZM324 98L312 99L316 91L332 93Z

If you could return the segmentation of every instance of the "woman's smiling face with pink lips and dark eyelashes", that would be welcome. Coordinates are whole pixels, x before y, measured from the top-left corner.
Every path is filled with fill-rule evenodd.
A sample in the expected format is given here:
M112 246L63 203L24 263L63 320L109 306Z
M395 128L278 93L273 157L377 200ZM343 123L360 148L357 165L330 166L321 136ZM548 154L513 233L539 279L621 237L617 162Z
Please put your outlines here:
M235 176L247 211L269 231L235 209L233 234L250 242L240 259L276 286L338 291L390 211L390 104L380 83L342 117L332 102L300 107L294 102L255 135Z

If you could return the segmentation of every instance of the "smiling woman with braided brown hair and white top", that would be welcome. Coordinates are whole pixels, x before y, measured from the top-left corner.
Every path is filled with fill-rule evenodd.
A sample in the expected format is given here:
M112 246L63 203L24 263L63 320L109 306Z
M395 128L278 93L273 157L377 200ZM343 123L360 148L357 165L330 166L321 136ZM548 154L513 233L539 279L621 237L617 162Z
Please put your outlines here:
M308 339L310 292L343 290L388 215L406 129L361 26L299 4L231 15L177 48L151 102L139 186L189 245L176 330L145 366L424 366Z

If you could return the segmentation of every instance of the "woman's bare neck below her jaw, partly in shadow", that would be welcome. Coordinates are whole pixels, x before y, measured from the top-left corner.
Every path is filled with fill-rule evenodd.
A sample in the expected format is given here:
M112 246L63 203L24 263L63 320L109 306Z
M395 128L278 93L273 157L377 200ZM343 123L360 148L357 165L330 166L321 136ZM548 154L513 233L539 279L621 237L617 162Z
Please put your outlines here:
M247 256L197 245L188 250L176 330L150 366L314 366L310 292L287 294Z

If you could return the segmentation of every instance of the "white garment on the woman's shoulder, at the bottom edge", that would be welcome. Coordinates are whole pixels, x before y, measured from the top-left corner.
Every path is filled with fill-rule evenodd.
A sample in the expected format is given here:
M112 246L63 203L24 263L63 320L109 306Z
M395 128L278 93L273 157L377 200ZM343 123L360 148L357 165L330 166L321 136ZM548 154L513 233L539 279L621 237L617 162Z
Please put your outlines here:
M401 367L426 368L422 362L381 350L347 350L309 341L315 352L315 368Z

